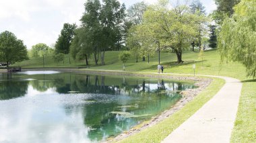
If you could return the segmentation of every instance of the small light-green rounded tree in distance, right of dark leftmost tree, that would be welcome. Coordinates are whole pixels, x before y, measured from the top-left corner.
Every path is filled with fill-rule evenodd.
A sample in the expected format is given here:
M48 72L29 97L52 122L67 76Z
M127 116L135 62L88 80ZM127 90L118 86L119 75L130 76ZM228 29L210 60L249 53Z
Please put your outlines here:
M39 44L32 46L32 49L30 50L31 58L49 56L51 54L53 54L53 49L43 43L39 43Z

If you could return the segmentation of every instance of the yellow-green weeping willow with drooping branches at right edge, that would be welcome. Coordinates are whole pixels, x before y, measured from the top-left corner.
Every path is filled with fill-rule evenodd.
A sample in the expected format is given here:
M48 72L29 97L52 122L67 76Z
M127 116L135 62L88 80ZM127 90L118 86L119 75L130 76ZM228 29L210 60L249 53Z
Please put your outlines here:
M256 1L242 0L234 8L234 15L223 21L218 34L218 49L222 61L241 62L247 75L256 76Z

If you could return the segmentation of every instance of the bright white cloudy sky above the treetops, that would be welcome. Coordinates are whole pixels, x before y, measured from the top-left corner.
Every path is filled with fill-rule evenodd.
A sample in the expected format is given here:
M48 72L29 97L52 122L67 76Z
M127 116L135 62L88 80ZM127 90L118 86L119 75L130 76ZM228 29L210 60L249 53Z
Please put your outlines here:
M129 7L140 1L152 4L157 0L119 1ZM38 43L53 47L64 23L80 24L85 2L86 0L1 0L0 33L5 30L13 32L18 39L24 41L28 49ZM214 0L201 2L207 13L216 9Z

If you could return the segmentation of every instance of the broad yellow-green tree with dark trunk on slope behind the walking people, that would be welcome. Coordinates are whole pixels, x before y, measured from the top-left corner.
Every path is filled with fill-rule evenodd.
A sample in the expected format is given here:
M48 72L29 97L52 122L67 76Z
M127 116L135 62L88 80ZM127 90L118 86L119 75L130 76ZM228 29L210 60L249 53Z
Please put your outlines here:
M183 50L189 48L197 34L195 26L198 17L189 13L186 5L169 9L168 4L168 1L162 0L158 5L148 7L141 29L145 28L143 33L147 32L147 39L154 44L155 51L158 40L161 48L174 50L177 62L182 63Z

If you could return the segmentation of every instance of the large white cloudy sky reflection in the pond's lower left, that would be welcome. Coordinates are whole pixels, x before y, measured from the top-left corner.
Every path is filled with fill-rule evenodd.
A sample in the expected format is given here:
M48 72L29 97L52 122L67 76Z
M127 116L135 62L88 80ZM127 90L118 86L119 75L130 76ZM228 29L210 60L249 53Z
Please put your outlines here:
M66 115L53 89L28 88L24 98L1 101L0 142L91 142L82 113ZM37 96L36 98L34 96Z

